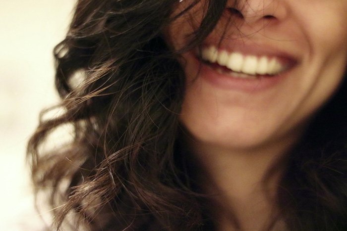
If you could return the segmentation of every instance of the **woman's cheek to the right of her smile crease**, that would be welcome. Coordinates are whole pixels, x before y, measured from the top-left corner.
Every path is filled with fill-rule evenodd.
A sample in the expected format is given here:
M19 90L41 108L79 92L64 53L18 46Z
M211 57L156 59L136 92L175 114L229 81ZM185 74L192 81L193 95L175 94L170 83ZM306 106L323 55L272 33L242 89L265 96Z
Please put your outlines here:
M296 20L307 41L308 52L305 61L306 78L304 84L311 86L306 91L310 100L302 104L304 113L315 105L322 105L338 88L347 66L347 3L332 3L324 7L307 6L297 12ZM317 17L320 15L320 17ZM314 103L313 103L314 102ZM317 106L316 106L317 107Z

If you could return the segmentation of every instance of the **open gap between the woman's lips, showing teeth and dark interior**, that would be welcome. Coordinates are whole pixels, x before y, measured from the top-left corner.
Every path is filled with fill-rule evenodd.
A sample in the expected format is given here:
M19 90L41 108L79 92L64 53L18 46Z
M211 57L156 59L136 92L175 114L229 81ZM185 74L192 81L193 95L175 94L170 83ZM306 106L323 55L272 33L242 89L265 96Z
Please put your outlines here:
M243 79L278 76L293 66L293 61L281 57L246 55L219 50L216 46L202 47L200 59L220 74Z

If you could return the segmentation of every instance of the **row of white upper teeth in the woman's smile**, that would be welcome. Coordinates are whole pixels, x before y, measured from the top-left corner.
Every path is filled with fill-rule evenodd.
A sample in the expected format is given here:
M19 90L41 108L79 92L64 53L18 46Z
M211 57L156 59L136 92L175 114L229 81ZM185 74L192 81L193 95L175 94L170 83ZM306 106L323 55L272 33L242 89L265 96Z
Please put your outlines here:
M217 62L234 72L242 72L248 75L275 75L286 68L277 58L243 55L239 52L218 50L215 46L204 47L201 56L206 61Z

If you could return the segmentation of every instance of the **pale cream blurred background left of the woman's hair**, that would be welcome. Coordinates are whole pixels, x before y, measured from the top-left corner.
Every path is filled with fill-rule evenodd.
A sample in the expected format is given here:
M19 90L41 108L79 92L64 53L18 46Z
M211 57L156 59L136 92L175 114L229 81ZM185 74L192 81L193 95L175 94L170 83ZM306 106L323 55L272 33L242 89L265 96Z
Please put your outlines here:
M52 49L75 0L0 2L0 231L39 231L25 146L39 111L57 102Z

